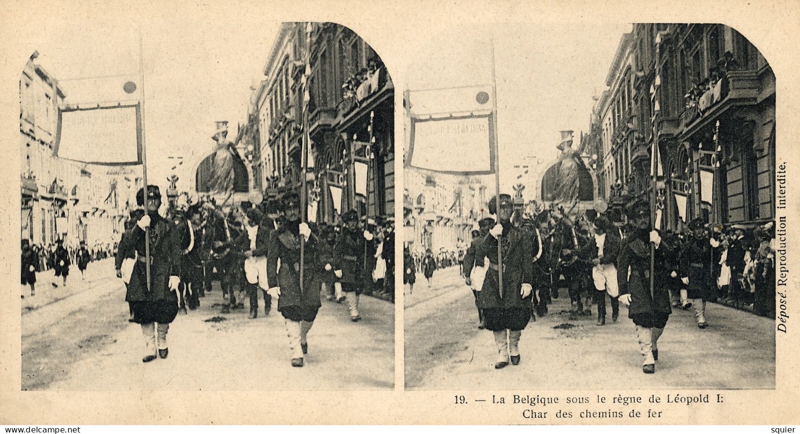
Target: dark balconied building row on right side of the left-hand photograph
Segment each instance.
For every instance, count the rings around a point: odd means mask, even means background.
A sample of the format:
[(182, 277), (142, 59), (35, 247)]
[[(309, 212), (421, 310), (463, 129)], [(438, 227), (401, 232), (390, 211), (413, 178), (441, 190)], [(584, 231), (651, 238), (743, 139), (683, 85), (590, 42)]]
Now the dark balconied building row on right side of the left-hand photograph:
[(306, 179), (310, 197), (317, 199), (318, 221), (334, 222), (348, 209), (361, 216), (392, 216), (394, 85), (378, 54), (344, 26), (284, 23), (264, 74), (254, 97), (263, 185), (301, 181), (305, 115), (314, 173)]

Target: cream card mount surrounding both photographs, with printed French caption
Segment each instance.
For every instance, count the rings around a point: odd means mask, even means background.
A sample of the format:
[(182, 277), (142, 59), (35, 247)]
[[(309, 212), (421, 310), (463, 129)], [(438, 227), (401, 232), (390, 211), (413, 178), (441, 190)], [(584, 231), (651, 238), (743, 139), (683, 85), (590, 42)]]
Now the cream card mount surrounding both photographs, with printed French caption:
[[(2, 237), (2, 293), (0, 293), (0, 424), (647, 424), (653, 420), (526, 420), (521, 412), (527, 406), (495, 405), (482, 408), (456, 406), (454, 396), (469, 391), (404, 392), (402, 295), (395, 305), (395, 388), (387, 392), (21, 392), (20, 388), (20, 309), (16, 297), (18, 276), (18, 79), (26, 58), (38, 42), (63, 37), (70, 32), (99, 26), (105, 22), (174, 22), (174, 26), (209, 26), (214, 32), (237, 26), (242, 14), (259, 14), (265, 22), (330, 21), (349, 26), (373, 46), (390, 70), (395, 84), (395, 144), (405, 138), (402, 131), (403, 74), (410, 59), (422, 47), (414, 43), (427, 31), (442, 29), (454, 22), (486, 24), (491, 22), (564, 23), (581, 22), (720, 22), (739, 30), (764, 54), (777, 78), (778, 164), (786, 162), (790, 179), (800, 172), (800, 157), (792, 152), (800, 137), (798, 127), (798, 29), (800, 4), (775, 1), (742, 0), (706, 2), (644, 1), (539, 1), (421, 2), (412, 0), (339, 1), (268, 1), (241, 2), (88, 2), (65, 0), (49, 2), (2, 2), (0, 26), (0, 155), (5, 171), (0, 173), (0, 217)], [(100, 43), (113, 44), (109, 39)], [(587, 35), (590, 37), (590, 35)], [(231, 45), (247, 41), (231, 41)], [(265, 53), (266, 58), (266, 53)], [(589, 113), (586, 113), (588, 116)], [(395, 215), (402, 227), (402, 155), (395, 155)], [(789, 240), (798, 240), (800, 218), (798, 193), (789, 185)], [(778, 214), (780, 215), (780, 214)], [(401, 237), (401, 235), (398, 235)], [(396, 257), (402, 263), (402, 243), (396, 243)], [(778, 333), (776, 389), (721, 393), (723, 404), (661, 404), (660, 424), (798, 424), (800, 423), (800, 388), (798, 388), (798, 333), (800, 333), (800, 294), (798, 256), (790, 252), (790, 282), (787, 288), (789, 333)], [(402, 288), (402, 273), (396, 273), (396, 287)], [(780, 290), (780, 289), (778, 289)], [(402, 291), (399, 291), (402, 294)], [(346, 354), (342, 354), (346, 356)], [(546, 356), (546, 355), (544, 355)], [(704, 360), (695, 360), (704, 363)], [(626, 372), (621, 372), (625, 374)], [(635, 376), (632, 376), (632, 381)], [(500, 391), (498, 391), (499, 393)], [(638, 395), (646, 400), (651, 392), (665, 395), (666, 390), (594, 390), (586, 391), (504, 391), (548, 396)], [(689, 392), (682, 390), (681, 392)], [(715, 396), (715, 390), (708, 392)], [(491, 392), (488, 392), (491, 393)], [(486, 394), (486, 393), (484, 393)], [(197, 403), (194, 410), (187, 405)], [(599, 410), (607, 404), (587, 406)], [(646, 406), (642, 405), (642, 409)], [(653, 406), (650, 406), (653, 407)], [(553, 406), (552, 408), (557, 408)]]

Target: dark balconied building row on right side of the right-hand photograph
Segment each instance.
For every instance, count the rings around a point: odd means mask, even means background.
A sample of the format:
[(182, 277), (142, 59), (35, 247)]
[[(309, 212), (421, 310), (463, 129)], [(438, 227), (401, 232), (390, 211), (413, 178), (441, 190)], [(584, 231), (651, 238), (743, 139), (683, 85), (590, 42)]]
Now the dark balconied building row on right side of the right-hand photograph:
[(718, 24), (636, 24), (606, 84), (595, 106), (606, 197), (650, 191), (655, 140), (665, 227), (774, 218), (774, 74), (742, 34)]

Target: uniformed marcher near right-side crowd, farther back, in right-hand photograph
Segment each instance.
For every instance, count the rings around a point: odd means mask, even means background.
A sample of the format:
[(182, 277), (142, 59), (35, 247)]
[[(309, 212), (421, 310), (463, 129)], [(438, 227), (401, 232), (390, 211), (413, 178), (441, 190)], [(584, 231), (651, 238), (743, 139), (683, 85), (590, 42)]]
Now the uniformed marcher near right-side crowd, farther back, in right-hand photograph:
[(699, 328), (706, 328), (706, 301), (716, 299), (716, 285), (711, 277), (711, 245), (706, 238), (702, 217), (689, 222), (692, 232), (681, 251), (681, 280), (688, 285), (688, 296), (694, 306), (694, 317)]

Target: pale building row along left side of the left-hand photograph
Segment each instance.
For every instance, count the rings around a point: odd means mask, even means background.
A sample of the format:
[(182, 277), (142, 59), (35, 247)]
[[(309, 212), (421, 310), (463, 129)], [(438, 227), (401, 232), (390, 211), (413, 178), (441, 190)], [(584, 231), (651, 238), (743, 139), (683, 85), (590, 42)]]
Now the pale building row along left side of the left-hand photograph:
[(35, 62), (37, 57), (34, 53), (28, 59), (19, 82), (21, 237), (41, 245), (59, 238), (68, 245), (114, 245), (123, 230), (126, 204), (135, 205), (133, 194), (141, 178), (132, 170), (53, 156), (58, 110), (66, 94)]

